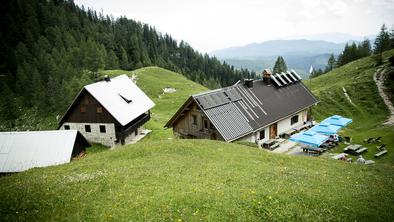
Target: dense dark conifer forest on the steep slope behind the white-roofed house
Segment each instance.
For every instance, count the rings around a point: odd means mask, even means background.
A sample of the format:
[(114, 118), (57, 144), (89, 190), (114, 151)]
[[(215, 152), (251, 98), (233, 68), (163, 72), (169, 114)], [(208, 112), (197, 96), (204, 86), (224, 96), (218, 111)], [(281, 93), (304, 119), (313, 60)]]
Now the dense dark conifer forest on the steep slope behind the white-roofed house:
[(9, 128), (26, 109), (63, 113), (101, 69), (155, 65), (208, 88), (256, 76), (148, 24), (114, 19), (72, 0), (5, 0), (0, 13), (0, 120)]

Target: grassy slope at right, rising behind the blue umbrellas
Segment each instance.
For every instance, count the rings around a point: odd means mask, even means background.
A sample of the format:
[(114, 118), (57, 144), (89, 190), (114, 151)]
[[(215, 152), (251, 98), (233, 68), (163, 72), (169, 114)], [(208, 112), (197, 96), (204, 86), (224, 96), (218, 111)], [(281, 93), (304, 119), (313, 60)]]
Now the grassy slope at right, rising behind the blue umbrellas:
[[(381, 67), (388, 65), (387, 59), (392, 55), (394, 50), (383, 54), (385, 64)], [(305, 82), (321, 101), (313, 109), (313, 116), (317, 120), (333, 114), (352, 118), (353, 123), (345, 128), (342, 135), (351, 136), (353, 143), (368, 147), (369, 150), (364, 155), (368, 159), (373, 159), (377, 152), (376, 146), (380, 144), (365, 144), (363, 140), (382, 136), (382, 143), (388, 145), (389, 154), (378, 163), (394, 165), (394, 127), (382, 125), (387, 120), (389, 111), (373, 81), (376, 69), (373, 58), (367, 57)], [(347, 100), (342, 87), (346, 89), (354, 105)], [(344, 145), (340, 146), (334, 152), (341, 152), (343, 147)]]

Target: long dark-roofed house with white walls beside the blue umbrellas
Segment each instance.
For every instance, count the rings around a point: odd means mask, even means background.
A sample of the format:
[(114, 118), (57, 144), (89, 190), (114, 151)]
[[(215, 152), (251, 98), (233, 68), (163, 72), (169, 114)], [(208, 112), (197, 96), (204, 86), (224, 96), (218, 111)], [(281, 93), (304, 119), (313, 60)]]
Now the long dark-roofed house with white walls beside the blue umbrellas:
[(261, 143), (304, 125), (319, 101), (294, 71), (192, 95), (165, 127), (180, 138)]

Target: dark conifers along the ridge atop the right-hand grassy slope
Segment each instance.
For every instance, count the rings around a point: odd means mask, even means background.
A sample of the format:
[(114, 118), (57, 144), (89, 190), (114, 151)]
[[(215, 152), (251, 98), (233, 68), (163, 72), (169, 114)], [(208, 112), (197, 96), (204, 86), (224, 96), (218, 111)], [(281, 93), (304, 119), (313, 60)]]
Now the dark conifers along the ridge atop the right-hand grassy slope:
[(369, 39), (365, 39), (358, 44), (355, 42), (346, 43), (342, 53), (340, 53), (337, 58), (335, 58), (334, 54), (331, 54), (326, 68), (324, 70), (314, 70), (314, 72), (311, 74), (311, 78), (325, 74), (336, 67), (343, 66), (349, 62), (370, 55), (374, 55), (376, 64), (380, 65), (383, 62), (381, 55), (382, 52), (390, 49), (394, 49), (394, 29), (388, 31), (386, 25), (383, 24), (380, 28), (379, 34), (376, 36), (373, 48)]

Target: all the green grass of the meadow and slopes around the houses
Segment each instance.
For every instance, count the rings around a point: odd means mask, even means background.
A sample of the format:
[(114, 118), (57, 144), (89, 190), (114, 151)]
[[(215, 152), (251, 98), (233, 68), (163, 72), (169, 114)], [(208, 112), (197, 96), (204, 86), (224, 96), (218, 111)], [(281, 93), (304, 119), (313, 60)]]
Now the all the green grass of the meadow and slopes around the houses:
[[(393, 54), (394, 51), (388, 52)], [(386, 53), (387, 56), (387, 53)], [(0, 177), (2, 221), (390, 221), (394, 212), (394, 136), (372, 82), (369, 58), (315, 78), (318, 119), (353, 118), (341, 134), (355, 143), (383, 136), (389, 154), (374, 166), (331, 158), (274, 154), (207, 140), (178, 140), (164, 124), (206, 88), (182, 75), (147, 67), (133, 72), (156, 103), (142, 141), (109, 151), (100, 145), (70, 164)], [(309, 81), (307, 82), (309, 84)], [(343, 96), (344, 86), (357, 105)], [(176, 93), (162, 95), (173, 87)], [(341, 145), (343, 148), (343, 145)], [(374, 154), (373, 146), (366, 155)], [(335, 151), (341, 151), (338, 148)]]

